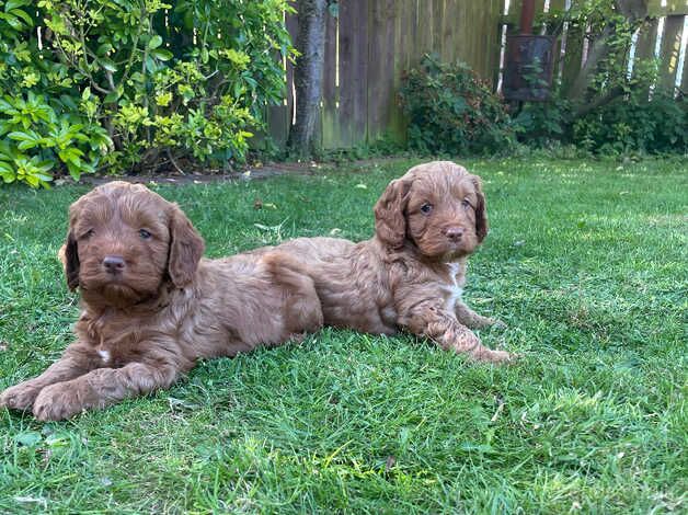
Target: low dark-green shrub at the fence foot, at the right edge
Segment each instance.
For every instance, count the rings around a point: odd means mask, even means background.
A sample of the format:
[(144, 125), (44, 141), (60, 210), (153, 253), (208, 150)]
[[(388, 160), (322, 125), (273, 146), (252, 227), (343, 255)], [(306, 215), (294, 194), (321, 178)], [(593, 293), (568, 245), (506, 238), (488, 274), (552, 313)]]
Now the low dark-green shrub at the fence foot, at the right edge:
[(666, 92), (616, 99), (573, 124), (573, 141), (593, 152), (688, 152), (688, 103)]

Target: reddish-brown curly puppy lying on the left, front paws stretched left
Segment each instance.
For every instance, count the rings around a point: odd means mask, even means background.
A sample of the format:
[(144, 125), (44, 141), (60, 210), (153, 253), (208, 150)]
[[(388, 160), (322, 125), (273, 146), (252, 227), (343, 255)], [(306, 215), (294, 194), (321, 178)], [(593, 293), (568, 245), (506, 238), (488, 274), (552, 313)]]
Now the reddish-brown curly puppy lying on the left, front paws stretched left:
[(312, 281), (270, 253), (202, 259), (182, 210), (142, 185), (112, 182), (70, 208), (62, 250), (79, 287), (77, 341), (0, 405), (69, 417), (168, 388), (198, 358), (276, 345), (322, 325)]

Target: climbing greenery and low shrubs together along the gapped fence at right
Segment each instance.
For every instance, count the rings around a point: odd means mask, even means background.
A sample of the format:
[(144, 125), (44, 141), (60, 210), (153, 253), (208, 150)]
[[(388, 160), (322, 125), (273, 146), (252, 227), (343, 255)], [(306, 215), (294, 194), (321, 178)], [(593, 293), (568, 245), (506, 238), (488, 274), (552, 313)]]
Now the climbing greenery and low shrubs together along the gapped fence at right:
[(632, 11), (620, 10), (618, 2), (581, 0), (541, 15), (552, 35), (560, 35), (564, 24), (574, 37), (586, 33), (595, 42), (595, 60), (557, 84), (550, 101), (523, 105), (514, 119), (520, 141), (540, 148), (574, 144), (610, 156), (687, 151), (685, 99), (662, 91), (649, 99), (660, 79), (658, 60), (635, 58), (629, 73), (633, 35), (650, 30), (650, 19)]

